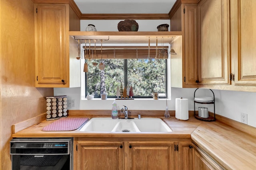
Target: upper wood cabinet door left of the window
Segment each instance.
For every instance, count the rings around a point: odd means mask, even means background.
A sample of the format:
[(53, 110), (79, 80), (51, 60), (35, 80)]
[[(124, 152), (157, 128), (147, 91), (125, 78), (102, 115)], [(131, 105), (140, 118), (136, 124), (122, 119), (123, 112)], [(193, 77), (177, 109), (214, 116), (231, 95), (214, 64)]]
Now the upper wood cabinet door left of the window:
[(68, 6), (35, 4), (35, 8), (36, 87), (42, 87), (42, 84), (66, 84)]

